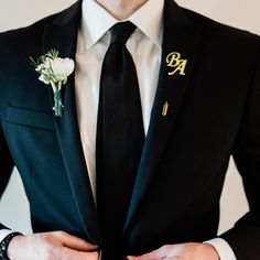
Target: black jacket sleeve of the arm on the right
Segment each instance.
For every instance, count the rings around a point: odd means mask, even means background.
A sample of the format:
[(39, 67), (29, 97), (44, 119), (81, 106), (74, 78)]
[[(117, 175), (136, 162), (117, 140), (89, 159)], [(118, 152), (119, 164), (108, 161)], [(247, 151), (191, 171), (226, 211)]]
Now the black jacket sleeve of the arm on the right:
[(232, 152), (250, 210), (220, 236), (231, 246), (238, 260), (260, 259), (260, 54), (253, 75)]

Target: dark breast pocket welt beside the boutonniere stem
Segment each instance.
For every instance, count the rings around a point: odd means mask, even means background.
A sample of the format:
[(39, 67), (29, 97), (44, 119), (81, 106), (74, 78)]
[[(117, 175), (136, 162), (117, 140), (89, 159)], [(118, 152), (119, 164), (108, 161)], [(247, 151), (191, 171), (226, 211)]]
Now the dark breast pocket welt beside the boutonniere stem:
[(55, 130), (52, 113), (12, 107), (10, 105), (7, 110), (7, 121), (28, 127)]

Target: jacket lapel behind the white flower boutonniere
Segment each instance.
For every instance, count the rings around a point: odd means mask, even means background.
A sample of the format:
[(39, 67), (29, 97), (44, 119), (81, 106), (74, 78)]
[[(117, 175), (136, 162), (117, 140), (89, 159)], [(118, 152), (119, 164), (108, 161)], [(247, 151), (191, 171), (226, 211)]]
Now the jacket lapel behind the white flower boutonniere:
[[(54, 23), (45, 28), (43, 53), (51, 48), (56, 48), (59, 51), (61, 57), (71, 57), (75, 61), (80, 8), (79, 1), (57, 15)], [(91, 242), (99, 245), (98, 218), (78, 129), (74, 77), (75, 75), (72, 75), (68, 78), (68, 83), (63, 89), (64, 116), (54, 120), (64, 164), (83, 228)], [(53, 104), (51, 87), (50, 98)]]

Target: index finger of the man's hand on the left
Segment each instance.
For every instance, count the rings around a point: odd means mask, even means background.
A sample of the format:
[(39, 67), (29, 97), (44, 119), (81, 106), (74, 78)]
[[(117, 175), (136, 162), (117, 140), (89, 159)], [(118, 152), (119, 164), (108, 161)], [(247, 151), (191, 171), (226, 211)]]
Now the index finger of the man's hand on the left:
[(56, 231), (53, 235), (61, 241), (64, 247), (88, 252), (97, 250), (96, 245), (89, 243), (82, 238), (69, 235), (68, 232)]

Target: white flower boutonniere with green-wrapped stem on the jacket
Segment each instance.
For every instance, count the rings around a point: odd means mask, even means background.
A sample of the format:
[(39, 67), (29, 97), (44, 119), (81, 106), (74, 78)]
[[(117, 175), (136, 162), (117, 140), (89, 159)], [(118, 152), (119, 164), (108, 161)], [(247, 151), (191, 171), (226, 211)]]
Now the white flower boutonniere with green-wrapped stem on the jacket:
[(36, 61), (30, 57), (35, 71), (41, 74), (39, 79), (51, 85), (54, 94), (53, 110), (56, 117), (63, 116), (62, 87), (67, 83), (67, 77), (74, 72), (73, 59), (58, 57), (58, 51), (52, 48)]

